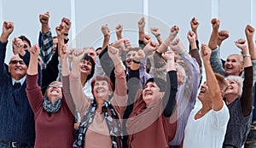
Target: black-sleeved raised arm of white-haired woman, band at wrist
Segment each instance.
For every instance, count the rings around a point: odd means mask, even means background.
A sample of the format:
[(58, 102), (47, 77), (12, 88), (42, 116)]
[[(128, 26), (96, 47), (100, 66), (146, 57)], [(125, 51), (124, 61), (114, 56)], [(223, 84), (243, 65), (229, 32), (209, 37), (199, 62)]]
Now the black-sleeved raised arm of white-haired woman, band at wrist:
[(244, 75), (242, 93), (241, 93), (241, 111), (244, 117), (247, 117), (253, 107), (253, 67), (252, 60), (249, 53), (247, 41), (245, 39), (239, 39), (236, 42), (236, 46), (241, 48), (241, 54), (243, 54), (244, 62)]

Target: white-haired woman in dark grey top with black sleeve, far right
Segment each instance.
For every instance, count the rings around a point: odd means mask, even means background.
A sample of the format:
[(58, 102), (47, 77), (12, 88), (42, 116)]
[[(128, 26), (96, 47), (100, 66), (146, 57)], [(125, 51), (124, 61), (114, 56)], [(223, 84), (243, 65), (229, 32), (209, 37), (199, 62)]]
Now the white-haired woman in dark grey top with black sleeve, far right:
[(224, 101), (230, 111), (230, 121), (224, 139), (224, 148), (241, 147), (245, 144), (252, 120), (253, 65), (246, 40), (239, 39), (244, 59), (244, 80), (239, 76), (226, 78), (229, 86), (224, 92)]

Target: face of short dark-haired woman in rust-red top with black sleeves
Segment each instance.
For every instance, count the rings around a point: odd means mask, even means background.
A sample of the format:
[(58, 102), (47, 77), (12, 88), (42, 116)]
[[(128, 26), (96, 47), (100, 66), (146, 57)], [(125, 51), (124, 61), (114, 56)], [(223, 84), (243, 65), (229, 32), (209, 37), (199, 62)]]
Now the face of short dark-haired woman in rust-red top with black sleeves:
[(147, 106), (154, 100), (162, 98), (162, 96), (163, 92), (160, 92), (160, 88), (156, 83), (148, 82), (143, 88), (143, 100)]

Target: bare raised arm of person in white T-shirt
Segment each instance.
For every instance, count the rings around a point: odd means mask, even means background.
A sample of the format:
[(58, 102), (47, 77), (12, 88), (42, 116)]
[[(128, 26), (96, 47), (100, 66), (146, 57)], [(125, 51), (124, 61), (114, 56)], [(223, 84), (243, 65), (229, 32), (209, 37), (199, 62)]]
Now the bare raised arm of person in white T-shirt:
[(207, 47), (207, 45), (202, 44), (201, 45), (201, 58), (203, 60), (206, 76), (207, 76), (207, 94), (210, 94), (209, 96), (212, 99), (212, 108), (214, 111), (219, 111), (222, 109), (224, 105), (224, 101), (221, 95), (220, 88), (218, 86), (218, 81), (214, 75), (214, 72), (212, 71), (212, 66), (210, 63), (210, 57), (212, 54), (212, 49)]

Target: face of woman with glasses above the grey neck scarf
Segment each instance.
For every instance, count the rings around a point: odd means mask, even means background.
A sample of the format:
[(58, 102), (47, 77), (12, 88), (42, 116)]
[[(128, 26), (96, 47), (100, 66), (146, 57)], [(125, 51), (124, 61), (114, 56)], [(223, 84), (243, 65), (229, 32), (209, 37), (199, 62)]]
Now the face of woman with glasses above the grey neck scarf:
[(61, 82), (53, 82), (50, 83), (47, 90), (46, 95), (48, 96), (49, 100), (62, 98), (62, 83)]

